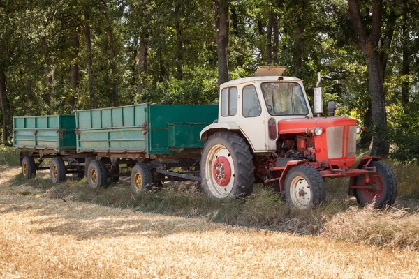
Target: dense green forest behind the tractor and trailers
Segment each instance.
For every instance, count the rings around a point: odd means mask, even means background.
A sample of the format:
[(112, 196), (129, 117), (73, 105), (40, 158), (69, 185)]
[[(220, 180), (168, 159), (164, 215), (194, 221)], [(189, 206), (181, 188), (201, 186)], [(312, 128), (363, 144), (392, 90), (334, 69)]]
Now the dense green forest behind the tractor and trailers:
[(284, 65), (310, 100), (321, 72), (361, 147), (416, 161), (418, 18), (417, 0), (0, 0), (0, 143), (13, 116), (217, 103), (219, 84)]

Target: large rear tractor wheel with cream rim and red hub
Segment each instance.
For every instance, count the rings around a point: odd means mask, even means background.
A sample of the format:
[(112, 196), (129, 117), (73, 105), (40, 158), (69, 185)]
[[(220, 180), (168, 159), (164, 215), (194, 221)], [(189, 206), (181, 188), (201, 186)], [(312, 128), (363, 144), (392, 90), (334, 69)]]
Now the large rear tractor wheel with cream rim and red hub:
[(200, 167), (202, 186), (210, 198), (247, 197), (253, 192), (253, 155), (240, 135), (211, 135), (205, 143)]

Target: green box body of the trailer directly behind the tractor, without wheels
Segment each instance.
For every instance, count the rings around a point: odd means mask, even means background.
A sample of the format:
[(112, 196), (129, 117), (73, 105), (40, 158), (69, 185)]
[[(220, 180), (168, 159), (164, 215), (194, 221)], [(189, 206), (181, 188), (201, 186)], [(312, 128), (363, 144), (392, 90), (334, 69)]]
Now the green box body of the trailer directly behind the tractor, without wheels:
[[(179, 158), (200, 153), (199, 133), (217, 119), (218, 105), (128, 105), (75, 112), (78, 153)], [(170, 156), (175, 154), (175, 156)]]

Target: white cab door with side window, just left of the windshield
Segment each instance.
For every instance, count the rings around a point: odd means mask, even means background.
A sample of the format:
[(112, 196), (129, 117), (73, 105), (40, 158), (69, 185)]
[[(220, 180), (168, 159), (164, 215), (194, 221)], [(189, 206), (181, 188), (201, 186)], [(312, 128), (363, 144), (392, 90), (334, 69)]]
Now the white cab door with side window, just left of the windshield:
[(240, 119), (240, 130), (247, 137), (255, 152), (267, 151), (266, 112), (261, 97), (255, 84), (240, 84), (238, 106), (240, 107), (240, 117), (237, 119)]

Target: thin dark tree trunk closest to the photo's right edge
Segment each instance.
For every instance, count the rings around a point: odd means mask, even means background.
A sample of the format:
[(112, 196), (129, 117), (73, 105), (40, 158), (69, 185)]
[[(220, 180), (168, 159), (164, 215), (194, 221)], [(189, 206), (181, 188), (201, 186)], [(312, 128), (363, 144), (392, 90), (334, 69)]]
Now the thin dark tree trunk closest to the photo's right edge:
[[(403, 42), (403, 62), (402, 75), (410, 74), (410, 52), (409, 52), (409, 30), (407, 29), (408, 6), (407, 0), (403, 1), (403, 23), (402, 23), (402, 42)], [(406, 107), (409, 103), (409, 82), (402, 82), (402, 103)]]

